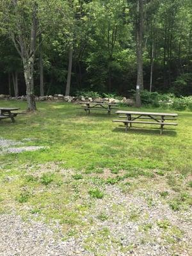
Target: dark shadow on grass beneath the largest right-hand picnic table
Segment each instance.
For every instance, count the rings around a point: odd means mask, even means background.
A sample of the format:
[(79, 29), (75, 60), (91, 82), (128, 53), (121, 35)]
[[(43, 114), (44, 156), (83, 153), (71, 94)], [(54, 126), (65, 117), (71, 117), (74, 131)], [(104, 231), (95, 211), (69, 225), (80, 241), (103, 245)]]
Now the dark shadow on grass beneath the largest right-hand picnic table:
[[(143, 134), (143, 135), (160, 135), (160, 129), (159, 128), (152, 128), (152, 129), (143, 129), (143, 127), (131, 127), (128, 129), (127, 132), (125, 132), (125, 127), (123, 125), (120, 125), (119, 127), (116, 127), (113, 129), (113, 132), (124, 132), (125, 134)], [(176, 137), (177, 132), (173, 129), (163, 129), (163, 136), (171, 136)]]

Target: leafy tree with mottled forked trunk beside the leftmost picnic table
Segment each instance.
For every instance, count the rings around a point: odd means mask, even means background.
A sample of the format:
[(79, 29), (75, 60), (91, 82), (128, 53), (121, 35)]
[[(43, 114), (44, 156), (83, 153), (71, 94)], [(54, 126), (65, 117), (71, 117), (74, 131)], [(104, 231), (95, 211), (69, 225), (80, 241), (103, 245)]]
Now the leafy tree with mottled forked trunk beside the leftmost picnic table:
[[(35, 111), (34, 63), (35, 54), (41, 40), (38, 36), (52, 26), (52, 19), (58, 16), (55, 12), (56, 2), (46, 0), (3, 0), (1, 10), (4, 13), (3, 26), (19, 52), (24, 69), (28, 111)], [(53, 12), (51, 12), (53, 10)]]

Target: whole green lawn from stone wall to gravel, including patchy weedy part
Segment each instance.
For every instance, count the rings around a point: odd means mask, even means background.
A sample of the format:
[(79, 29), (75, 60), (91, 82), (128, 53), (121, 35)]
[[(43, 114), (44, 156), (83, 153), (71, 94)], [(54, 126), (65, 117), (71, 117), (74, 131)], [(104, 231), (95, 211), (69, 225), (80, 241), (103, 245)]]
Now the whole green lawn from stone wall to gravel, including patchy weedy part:
[[(0, 106), (24, 110), (26, 102), (1, 100)], [(86, 116), (78, 107), (40, 102), (36, 113), (17, 116), (15, 124), (8, 119), (0, 123), (1, 138), (30, 138), (25, 145), (47, 147), (36, 152), (0, 154), (0, 212), (16, 211), (26, 218), (58, 220), (67, 239), (76, 236), (78, 228), (87, 230), (94, 225), (92, 214), (97, 201), (110, 197), (106, 186), (131, 194), (157, 186), (163, 204), (172, 211), (188, 211), (191, 112), (178, 112), (179, 125), (165, 127), (160, 136), (156, 125), (133, 125), (125, 133), (123, 125), (118, 127), (111, 122), (115, 113), (108, 116), (98, 111)], [(152, 198), (146, 200), (149, 206), (153, 205)], [(124, 212), (115, 206), (114, 209), (116, 214)], [(104, 212), (98, 212), (98, 216), (100, 221), (107, 218)], [(85, 243), (86, 250), (94, 250), (89, 244), (90, 241)]]

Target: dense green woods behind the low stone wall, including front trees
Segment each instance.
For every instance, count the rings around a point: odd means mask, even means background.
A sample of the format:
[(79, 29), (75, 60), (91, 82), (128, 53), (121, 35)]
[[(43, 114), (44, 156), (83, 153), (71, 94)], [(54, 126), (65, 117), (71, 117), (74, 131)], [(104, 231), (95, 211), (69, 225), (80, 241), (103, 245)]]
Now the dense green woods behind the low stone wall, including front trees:
[(54, 93), (192, 93), (191, 0), (2, 0), (0, 20), (0, 93), (29, 109)]

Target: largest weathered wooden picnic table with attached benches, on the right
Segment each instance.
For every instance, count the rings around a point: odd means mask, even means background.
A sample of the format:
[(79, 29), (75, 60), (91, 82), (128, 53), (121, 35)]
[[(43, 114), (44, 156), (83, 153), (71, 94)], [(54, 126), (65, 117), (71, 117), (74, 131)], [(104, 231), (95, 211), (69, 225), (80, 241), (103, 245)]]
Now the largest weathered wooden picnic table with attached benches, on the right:
[[(124, 123), (126, 132), (128, 131), (128, 127), (132, 127), (132, 124), (160, 125), (160, 134), (163, 134), (164, 125), (177, 125), (176, 123), (172, 123), (172, 122), (164, 122), (164, 120), (176, 120), (176, 117), (178, 116), (177, 113), (156, 113), (156, 112), (122, 111), (122, 110), (116, 111), (115, 113), (120, 115), (119, 116), (120, 118), (125, 118), (125, 120), (113, 120), (113, 122)], [(152, 120), (152, 122), (151, 121), (148, 122), (145, 120)]]

